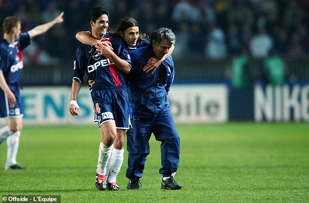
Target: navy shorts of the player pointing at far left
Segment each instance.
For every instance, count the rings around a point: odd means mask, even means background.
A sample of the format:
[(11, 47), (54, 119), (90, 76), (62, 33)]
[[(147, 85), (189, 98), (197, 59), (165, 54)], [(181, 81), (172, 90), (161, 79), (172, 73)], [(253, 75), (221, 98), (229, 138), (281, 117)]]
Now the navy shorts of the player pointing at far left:
[(22, 117), (23, 109), (19, 94), (20, 87), (19, 85), (11, 85), (11, 84), (9, 84), (8, 86), (16, 97), (16, 104), (14, 107), (10, 108), (10, 104), (6, 99), (5, 93), (0, 88), (0, 118)]

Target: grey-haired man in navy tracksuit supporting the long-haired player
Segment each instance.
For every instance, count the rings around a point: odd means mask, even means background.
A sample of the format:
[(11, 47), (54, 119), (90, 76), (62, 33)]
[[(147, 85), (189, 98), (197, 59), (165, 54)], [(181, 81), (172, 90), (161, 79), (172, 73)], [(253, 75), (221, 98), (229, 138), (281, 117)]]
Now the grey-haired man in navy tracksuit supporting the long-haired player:
[(161, 143), (162, 189), (181, 189), (174, 181), (180, 154), (180, 139), (175, 128), (167, 95), (174, 80), (174, 62), (170, 56), (154, 74), (144, 72), (143, 67), (151, 57), (162, 57), (175, 42), (175, 35), (168, 28), (159, 28), (151, 35), (152, 43), (130, 51), (132, 61), (128, 77), (128, 94), (132, 129), (127, 132), (129, 151), (126, 177), (127, 189), (139, 189), (147, 155), (149, 139), (154, 133)]

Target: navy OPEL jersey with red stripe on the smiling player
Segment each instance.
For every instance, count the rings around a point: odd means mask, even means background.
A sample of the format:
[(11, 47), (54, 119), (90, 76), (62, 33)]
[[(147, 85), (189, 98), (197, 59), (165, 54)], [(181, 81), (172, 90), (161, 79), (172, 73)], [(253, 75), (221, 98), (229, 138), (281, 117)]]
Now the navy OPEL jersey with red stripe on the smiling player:
[[(128, 50), (121, 37), (106, 33), (101, 41), (110, 41), (116, 55), (131, 66)], [(83, 76), (85, 73), (88, 79), (96, 81), (92, 88), (126, 85), (125, 73), (120, 71), (111, 59), (99, 55), (96, 51), (96, 47), (82, 44), (76, 51), (73, 79), (78, 79), (83, 83)]]

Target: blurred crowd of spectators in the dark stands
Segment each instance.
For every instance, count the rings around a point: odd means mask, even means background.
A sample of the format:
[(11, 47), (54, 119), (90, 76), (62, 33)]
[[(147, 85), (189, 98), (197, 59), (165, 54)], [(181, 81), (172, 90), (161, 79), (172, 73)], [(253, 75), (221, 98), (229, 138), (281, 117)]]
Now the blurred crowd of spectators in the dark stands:
[(225, 59), (244, 49), (253, 58), (266, 58), (270, 50), (290, 57), (309, 53), (309, 0), (0, 0), (0, 20), (16, 16), (27, 31), (64, 11), (64, 23), (36, 38), (36, 49), (72, 61), (75, 34), (90, 30), (88, 13), (97, 5), (110, 12), (114, 30), (129, 16), (148, 35), (171, 28), (175, 58)]

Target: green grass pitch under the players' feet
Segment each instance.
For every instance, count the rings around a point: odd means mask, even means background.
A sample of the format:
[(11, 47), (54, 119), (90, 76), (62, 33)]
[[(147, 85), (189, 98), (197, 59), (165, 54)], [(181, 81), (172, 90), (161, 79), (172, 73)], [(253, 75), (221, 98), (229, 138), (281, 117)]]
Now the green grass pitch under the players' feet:
[[(6, 171), (0, 145), (0, 195), (61, 195), (62, 203), (309, 202), (309, 123), (177, 125), (181, 156), (175, 180), (160, 189), (160, 143), (151, 154), (142, 189), (128, 191), (127, 151), (120, 192), (94, 185), (99, 134), (93, 126), (25, 126), (18, 161), (28, 170)], [(126, 147), (125, 147), (126, 149)]]

